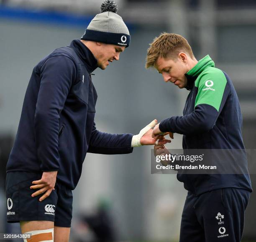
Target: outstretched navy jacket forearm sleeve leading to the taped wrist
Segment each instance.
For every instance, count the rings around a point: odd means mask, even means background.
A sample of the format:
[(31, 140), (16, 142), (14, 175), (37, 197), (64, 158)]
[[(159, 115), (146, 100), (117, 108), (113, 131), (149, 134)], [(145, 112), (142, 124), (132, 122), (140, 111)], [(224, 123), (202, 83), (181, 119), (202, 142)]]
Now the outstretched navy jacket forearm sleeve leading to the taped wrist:
[(108, 134), (100, 132), (93, 124), (90, 145), (87, 152), (97, 154), (129, 154), (133, 152), (133, 134)]

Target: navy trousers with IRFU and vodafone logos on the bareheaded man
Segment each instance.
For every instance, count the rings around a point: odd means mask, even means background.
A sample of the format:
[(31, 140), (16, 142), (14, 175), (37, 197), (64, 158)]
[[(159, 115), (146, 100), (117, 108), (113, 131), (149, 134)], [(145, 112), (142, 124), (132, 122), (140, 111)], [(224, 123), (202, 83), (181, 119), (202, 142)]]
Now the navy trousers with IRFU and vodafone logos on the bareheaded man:
[(182, 212), (179, 242), (240, 242), (251, 192), (238, 188), (188, 192)]

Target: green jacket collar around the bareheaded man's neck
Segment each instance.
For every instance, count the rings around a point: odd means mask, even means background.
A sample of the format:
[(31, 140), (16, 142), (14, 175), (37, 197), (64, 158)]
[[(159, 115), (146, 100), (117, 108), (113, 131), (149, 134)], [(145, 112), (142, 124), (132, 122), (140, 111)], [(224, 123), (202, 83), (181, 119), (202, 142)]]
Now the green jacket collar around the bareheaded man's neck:
[(206, 55), (204, 58), (199, 60), (197, 64), (185, 74), (187, 77), (187, 90), (191, 90), (193, 88), (195, 80), (207, 66), (214, 67), (214, 62), (210, 58), (210, 55)]

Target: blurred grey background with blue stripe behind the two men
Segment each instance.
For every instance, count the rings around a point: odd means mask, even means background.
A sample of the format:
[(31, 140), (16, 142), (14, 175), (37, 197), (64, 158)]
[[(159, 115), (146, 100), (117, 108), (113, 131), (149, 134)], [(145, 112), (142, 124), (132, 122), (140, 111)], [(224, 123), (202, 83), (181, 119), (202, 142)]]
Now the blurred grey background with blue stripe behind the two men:
[[(32, 69), (55, 48), (79, 39), (101, 3), (0, 0), (0, 232), (19, 231), (18, 224), (5, 222), (4, 173)], [(157, 71), (144, 68), (153, 38), (161, 32), (178, 33), (187, 38), (197, 60), (209, 54), (231, 77), (243, 113), (244, 143), (256, 149), (256, 1), (116, 3), (130, 29), (131, 45), (118, 62), (94, 72), (97, 129), (138, 134), (154, 118), (182, 114), (187, 90), (164, 83)], [(182, 148), (182, 136), (174, 134), (168, 147)], [(145, 146), (128, 155), (87, 154), (73, 192), (70, 241), (96, 241), (99, 231), (107, 231), (105, 241), (178, 241), (186, 191), (176, 175), (152, 175), (150, 156), (151, 147)], [(254, 188), (256, 177), (251, 179)], [(243, 241), (256, 241), (255, 204), (253, 193)]]

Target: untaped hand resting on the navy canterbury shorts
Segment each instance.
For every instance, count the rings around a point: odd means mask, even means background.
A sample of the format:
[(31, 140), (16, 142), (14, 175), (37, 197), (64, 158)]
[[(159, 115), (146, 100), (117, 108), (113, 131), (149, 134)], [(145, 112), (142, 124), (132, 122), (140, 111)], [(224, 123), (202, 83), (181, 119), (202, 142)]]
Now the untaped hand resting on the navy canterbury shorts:
[(44, 195), (40, 197), (39, 201), (42, 202), (46, 197), (49, 197), (56, 183), (56, 176), (58, 171), (44, 171), (42, 178), (38, 181), (32, 181), (35, 184), (30, 187), (30, 189), (40, 189), (34, 192), (31, 197), (36, 197), (42, 193)]

